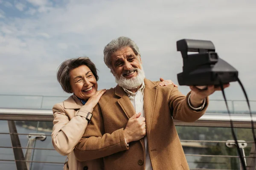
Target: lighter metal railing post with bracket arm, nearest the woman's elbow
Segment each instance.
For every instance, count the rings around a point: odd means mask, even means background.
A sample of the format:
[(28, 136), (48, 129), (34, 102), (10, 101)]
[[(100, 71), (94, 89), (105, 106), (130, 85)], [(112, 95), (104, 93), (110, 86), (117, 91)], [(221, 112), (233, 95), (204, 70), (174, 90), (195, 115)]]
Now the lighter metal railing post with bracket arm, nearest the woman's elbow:
[[(28, 138), (27, 147), (32, 148), (32, 147), (35, 146), (35, 141), (36, 140), (44, 141), (46, 139), (46, 136), (45, 136), (44, 133), (29, 133), (27, 138)], [(26, 153), (25, 153), (25, 160), (27, 161), (26, 166), (27, 166), (28, 170), (30, 170), (30, 165), (31, 165), (31, 162), (29, 162), (29, 161), (32, 161), (31, 160), (32, 150), (33, 149), (26, 149)]]

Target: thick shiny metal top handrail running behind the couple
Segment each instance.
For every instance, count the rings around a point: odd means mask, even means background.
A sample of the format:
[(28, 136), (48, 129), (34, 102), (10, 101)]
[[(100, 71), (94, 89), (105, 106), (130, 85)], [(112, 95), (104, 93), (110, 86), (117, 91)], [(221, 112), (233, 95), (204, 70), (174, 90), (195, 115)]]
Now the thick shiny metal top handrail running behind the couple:
[[(232, 119), (234, 127), (251, 128), (251, 121), (256, 126), (256, 115), (249, 114), (228, 114), (223, 113), (206, 113), (196, 122), (180, 122), (174, 120), (177, 126), (199, 126), (199, 127), (230, 127), (230, 119)], [(52, 122), (52, 110), (42, 109), (10, 109), (0, 108), (0, 120), (16, 120), (16, 121), (43, 121)]]

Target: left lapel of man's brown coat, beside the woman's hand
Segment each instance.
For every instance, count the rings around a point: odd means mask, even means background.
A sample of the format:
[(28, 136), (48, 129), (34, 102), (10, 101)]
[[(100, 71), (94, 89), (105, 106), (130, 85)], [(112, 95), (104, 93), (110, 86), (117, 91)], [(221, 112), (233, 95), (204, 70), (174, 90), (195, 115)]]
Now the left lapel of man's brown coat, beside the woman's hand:
[(131, 118), (135, 114), (135, 110), (133, 105), (131, 104), (131, 101), (125, 91), (123, 90), (122, 87), (119, 85), (116, 86), (116, 96), (121, 97), (120, 99), (117, 100), (118, 104), (124, 111), (125, 115), (127, 118)]

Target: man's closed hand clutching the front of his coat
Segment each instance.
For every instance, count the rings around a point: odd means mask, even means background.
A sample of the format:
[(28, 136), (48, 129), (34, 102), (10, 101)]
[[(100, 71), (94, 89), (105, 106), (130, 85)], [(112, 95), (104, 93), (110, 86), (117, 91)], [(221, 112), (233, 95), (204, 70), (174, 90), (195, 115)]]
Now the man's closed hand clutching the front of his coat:
[(124, 136), (127, 143), (140, 140), (146, 135), (145, 117), (140, 117), (141, 113), (134, 114), (124, 129)]

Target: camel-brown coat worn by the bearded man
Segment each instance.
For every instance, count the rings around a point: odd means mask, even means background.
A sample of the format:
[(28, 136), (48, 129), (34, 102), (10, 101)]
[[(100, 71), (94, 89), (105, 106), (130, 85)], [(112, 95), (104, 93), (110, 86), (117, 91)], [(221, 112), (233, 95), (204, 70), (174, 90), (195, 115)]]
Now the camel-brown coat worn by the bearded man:
[[(188, 95), (173, 85), (161, 87), (159, 82), (144, 80), (144, 114), (148, 152), (153, 170), (189, 170), (180, 139), (173, 122), (177, 119), (193, 122), (203, 111), (193, 111)], [(144, 170), (144, 139), (125, 144), (124, 131), (128, 119), (135, 114), (125, 91), (111, 88), (94, 108), (93, 119), (74, 149), (78, 160), (104, 157), (105, 170)]]

